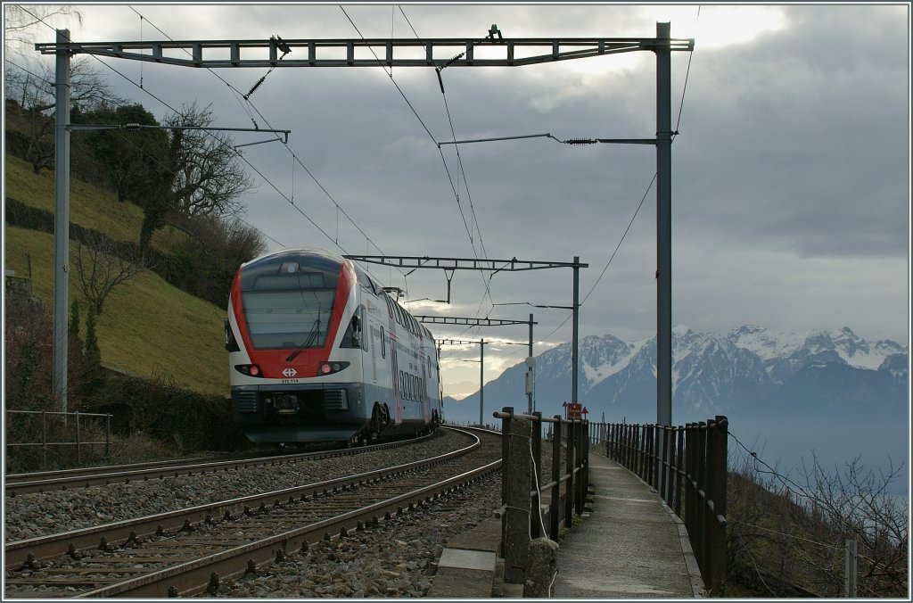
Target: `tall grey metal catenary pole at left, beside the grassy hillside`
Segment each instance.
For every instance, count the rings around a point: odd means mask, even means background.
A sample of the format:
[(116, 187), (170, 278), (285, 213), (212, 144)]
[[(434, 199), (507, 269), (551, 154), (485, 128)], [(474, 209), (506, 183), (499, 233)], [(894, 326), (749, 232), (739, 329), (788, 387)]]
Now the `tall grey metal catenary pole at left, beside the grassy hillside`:
[[(60, 48), (69, 42), (69, 30), (58, 29)], [(54, 396), (58, 410), (67, 412), (67, 361), (69, 337), (69, 53), (57, 52), (55, 80), (54, 155)]]

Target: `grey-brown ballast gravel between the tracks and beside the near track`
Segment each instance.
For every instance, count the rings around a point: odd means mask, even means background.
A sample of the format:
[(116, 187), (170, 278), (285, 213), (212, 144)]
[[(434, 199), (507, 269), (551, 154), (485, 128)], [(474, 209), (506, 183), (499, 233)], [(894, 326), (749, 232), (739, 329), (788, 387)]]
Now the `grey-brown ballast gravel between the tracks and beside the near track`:
[[(314, 481), (403, 464), (463, 448), (451, 431), (404, 448), (161, 480), (21, 494), (5, 499), (6, 541), (216, 503)], [(546, 452), (543, 465), (548, 467)], [(420, 598), (434, 580), (447, 543), (490, 519), (500, 506), (496, 473), (415, 511), (394, 514), (361, 532), (333, 536), (307, 551), (223, 580), (203, 598)]]

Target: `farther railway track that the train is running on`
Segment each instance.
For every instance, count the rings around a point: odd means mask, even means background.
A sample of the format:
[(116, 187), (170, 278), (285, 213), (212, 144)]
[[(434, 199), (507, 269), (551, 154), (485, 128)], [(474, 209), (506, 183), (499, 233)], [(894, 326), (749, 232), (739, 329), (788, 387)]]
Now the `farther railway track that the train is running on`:
[(386, 450), (413, 444), (431, 436), (373, 444), (357, 449), (326, 449), (293, 454), (274, 454), (238, 459), (184, 459), (165, 460), (160, 462), (141, 463), (136, 465), (114, 465), (109, 467), (88, 467), (63, 471), (40, 471), (35, 473), (15, 473), (5, 476), (4, 490), (6, 496), (17, 496), (33, 492), (52, 492), (69, 490), (111, 483), (131, 483), (176, 477), (178, 475), (199, 475), (215, 471), (231, 471), (249, 467), (278, 466), (287, 463), (327, 459), (337, 456), (360, 454), (372, 450)]

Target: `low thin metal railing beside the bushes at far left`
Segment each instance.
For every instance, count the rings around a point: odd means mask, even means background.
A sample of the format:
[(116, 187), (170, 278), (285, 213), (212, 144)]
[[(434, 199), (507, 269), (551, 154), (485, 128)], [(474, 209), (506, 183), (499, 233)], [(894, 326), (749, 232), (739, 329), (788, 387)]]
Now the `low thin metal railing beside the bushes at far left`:
[[(16, 418), (33, 418), (34, 423), (27, 425), (25, 428), (21, 426), (16, 426)], [(24, 433), (34, 434), (34, 436), (39, 435), (39, 428), (37, 426), (37, 418), (40, 417), (40, 440), (38, 441), (26, 441), (26, 442), (10, 442), (9, 438), (12, 435), (13, 431), (21, 431)], [(75, 420), (69, 420), (74, 418)], [(84, 421), (89, 419), (96, 424), (95, 429), (86, 427)], [(98, 423), (99, 419), (104, 419), (104, 440), (97, 440), (100, 434), (101, 428)], [(20, 419), (21, 420), (21, 419)], [(19, 427), (16, 429), (16, 427)], [(88, 434), (88, 435), (87, 435)], [(33, 437), (34, 437), (33, 436)], [(54, 439), (64, 439), (66, 437), (68, 441), (53, 441)], [(85, 439), (85, 438), (89, 439)], [(7, 450), (15, 450), (17, 448), (34, 450), (38, 447), (41, 449), (41, 468), (44, 471), (47, 471), (47, 457), (48, 451), (52, 447), (66, 447), (66, 446), (75, 446), (76, 447), (76, 462), (77, 464), (82, 463), (82, 452), (83, 449), (87, 446), (104, 446), (105, 452), (104, 456), (110, 456), (110, 443), (111, 443), (111, 415), (105, 414), (100, 415), (96, 413), (85, 413), (85, 412), (54, 412), (48, 410), (7, 410), (6, 411), (6, 441), (5, 446)]]

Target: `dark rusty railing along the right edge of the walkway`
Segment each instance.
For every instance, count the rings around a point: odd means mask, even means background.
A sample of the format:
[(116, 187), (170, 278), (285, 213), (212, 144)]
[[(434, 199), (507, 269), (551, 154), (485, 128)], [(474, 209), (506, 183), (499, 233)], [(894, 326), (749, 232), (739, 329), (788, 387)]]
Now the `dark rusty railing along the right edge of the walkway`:
[(650, 484), (685, 524), (708, 593), (726, 579), (729, 419), (666, 427), (591, 423), (606, 456)]

